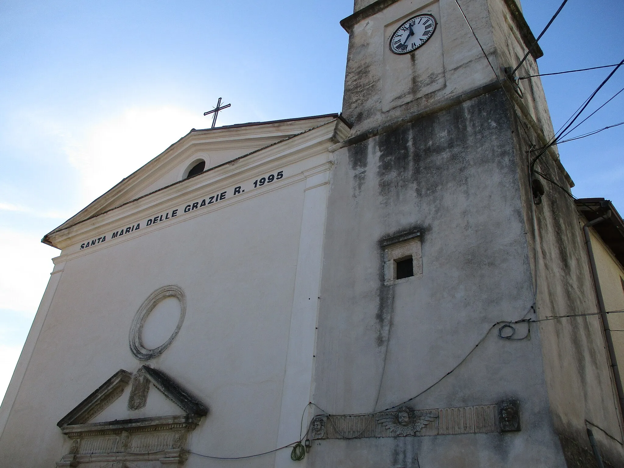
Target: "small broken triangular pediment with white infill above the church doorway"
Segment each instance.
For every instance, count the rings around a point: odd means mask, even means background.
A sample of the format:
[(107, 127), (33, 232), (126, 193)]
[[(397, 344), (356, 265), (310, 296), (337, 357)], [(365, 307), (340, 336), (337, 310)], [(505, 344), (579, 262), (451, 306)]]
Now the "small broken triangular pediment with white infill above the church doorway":
[(159, 417), (207, 414), (208, 408), (167, 374), (142, 366), (134, 374), (119, 369), (57, 426), (67, 430), (87, 424), (132, 424)]

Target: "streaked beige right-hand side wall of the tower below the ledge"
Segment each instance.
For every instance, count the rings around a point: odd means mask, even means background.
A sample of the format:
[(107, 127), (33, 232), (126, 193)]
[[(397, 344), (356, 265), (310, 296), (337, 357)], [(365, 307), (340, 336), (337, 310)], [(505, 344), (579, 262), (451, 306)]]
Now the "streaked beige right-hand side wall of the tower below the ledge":
[[(519, 140), (519, 173), (530, 255), (535, 258), (532, 233), (537, 229), (538, 316), (597, 313), (583, 232), (577, 208), (562, 188), (541, 178), (545, 194), (540, 205), (530, 202), (530, 145), (524, 130)], [(532, 142), (537, 135), (529, 130)], [(532, 152), (531, 157), (537, 153)], [(544, 154), (535, 168), (563, 188), (567, 180), (558, 161)], [(534, 218), (535, 217), (535, 218)], [(535, 224), (536, 228), (533, 228)], [(535, 268), (535, 267), (534, 267)], [(591, 451), (586, 428), (590, 427), (605, 459), (624, 465), (622, 421), (609, 358), (598, 316), (557, 319), (540, 323), (544, 371), (555, 430), (562, 436), (570, 466), (573, 450)], [(569, 449), (569, 450), (568, 450)]]

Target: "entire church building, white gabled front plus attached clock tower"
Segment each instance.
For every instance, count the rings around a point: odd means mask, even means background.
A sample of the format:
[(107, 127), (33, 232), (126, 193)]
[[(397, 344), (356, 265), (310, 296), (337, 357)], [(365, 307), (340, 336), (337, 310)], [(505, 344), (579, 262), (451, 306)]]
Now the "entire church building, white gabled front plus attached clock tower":
[(6, 466), (624, 466), (519, 4), (341, 24), (341, 114), (193, 129), (44, 237)]

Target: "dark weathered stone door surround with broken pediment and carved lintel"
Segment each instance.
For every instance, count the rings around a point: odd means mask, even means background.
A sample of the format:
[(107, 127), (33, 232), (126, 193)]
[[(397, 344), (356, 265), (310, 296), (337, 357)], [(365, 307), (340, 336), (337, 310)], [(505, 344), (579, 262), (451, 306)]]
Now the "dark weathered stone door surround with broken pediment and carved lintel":
[[(158, 369), (142, 366), (135, 373), (138, 376), (132, 379), (133, 386), (137, 385), (135, 401), (141, 399), (137, 395), (144, 392), (145, 386), (153, 385), (185, 414), (89, 422), (87, 416), (95, 414), (94, 408), (102, 411), (109, 406), (114, 401), (111, 395), (117, 394), (119, 388), (123, 391), (130, 375), (120, 369), (57, 423), (63, 434), (72, 440), (69, 453), (57, 462), (57, 467), (138, 468), (152, 467), (153, 463), (184, 464), (188, 434), (208, 414), (208, 408)], [(144, 395), (147, 397), (147, 392)]]

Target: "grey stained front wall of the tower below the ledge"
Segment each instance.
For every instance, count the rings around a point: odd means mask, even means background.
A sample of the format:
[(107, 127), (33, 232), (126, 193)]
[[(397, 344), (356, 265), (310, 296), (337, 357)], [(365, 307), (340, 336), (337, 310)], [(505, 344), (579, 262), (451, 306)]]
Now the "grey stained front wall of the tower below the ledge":
[[(326, 227), (314, 401), (380, 411), (519, 399), (522, 431), (316, 441), (312, 466), (564, 467), (534, 318), (514, 125), (497, 90), (336, 152)], [(379, 241), (422, 234), (421, 278), (384, 286)], [(490, 331), (489, 331), (490, 330)], [(478, 348), (477, 343), (487, 334)]]

